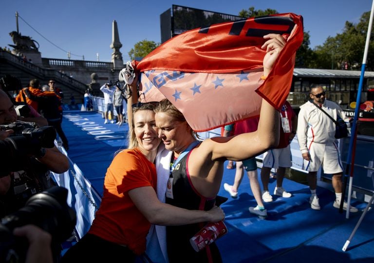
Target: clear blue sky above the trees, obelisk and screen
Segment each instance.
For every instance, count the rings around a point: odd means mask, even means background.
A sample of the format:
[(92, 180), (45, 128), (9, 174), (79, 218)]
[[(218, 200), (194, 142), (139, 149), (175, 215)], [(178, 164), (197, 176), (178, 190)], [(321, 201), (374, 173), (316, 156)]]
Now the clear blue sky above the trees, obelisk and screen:
[[(242, 9), (276, 9), (304, 18), (311, 47), (341, 33), (345, 21), (357, 23), (371, 10), (371, 0), (3, 0), (0, 8), (0, 46), (13, 44), (9, 32), (16, 31), (16, 11), (42, 36), (63, 50), (79, 55), (71, 59), (111, 61), (112, 21), (118, 24), (123, 60), (138, 41), (161, 42), (160, 14), (172, 4), (238, 15)], [(67, 53), (45, 40), (23, 20), (19, 31), (40, 44), (43, 58), (67, 59)]]

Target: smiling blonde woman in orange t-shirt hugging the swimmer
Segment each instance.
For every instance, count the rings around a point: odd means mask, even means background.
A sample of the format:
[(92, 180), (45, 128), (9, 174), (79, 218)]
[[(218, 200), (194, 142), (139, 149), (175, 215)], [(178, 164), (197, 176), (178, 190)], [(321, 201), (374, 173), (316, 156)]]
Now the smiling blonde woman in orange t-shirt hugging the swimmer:
[(218, 222), (219, 207), (187, 210), (160, 202), (155, 192), (154, 161), (160, 144), (154, 105), (133, 108), (129, 148), (118, 153), (107, 170), (104, 194), (88, 233), (62, 257), (62, 262), (134, 262), (146, 248), (150, 224), (181, 225)]

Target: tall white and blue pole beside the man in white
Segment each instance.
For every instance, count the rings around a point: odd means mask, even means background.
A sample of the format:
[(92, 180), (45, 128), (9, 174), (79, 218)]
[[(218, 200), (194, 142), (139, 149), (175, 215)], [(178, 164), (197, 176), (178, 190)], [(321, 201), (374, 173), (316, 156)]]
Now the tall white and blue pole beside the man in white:
[[(372, 25), (373, 25), (373, 14), (374, 14), (374, 0), (372, 2), (372, 10), (370, 12), (370, 19), (369, 19), (369, 26), (368, 26), (368, 33), (366, 35), (366, 43), (365, 43), (365, 51), (364, 51), (364, 57), (362, 59), (362, 67), (361, 67), (361, 77), (360, 77), (360, 83), (357, 91), (357, 101), (356, 101), (356, 108), (355, 108), (355, 117), (354, 117), (354, 122), (353, 122), (353, 127), (351, 129), (351, 141), (350, 141), (350, 150), (348, 151), (348, 157), (347, 158), (347, 163), (351, 162), (351, 156), (352, 156), (352, 144), (353, 140), (355, 140), (355, 127), (356, 127), (356, 121), (358, 119), (358, 108), (360, 105), (360, 98), (361, 98), (361, 90), (362, 90), (362, 82), (364, 79), (365, 75), (365, 65), (366, 65), (366, 59), (368, 57), (368, 49), (369, 49), (369, 42), (370, 42), (370, 35), (372, 33)], [(354, 163), (351, 163), (351, 165), (354, 165)], [(348, 191), (348, 200), (347, 200), (347, 213), (346, 213), (346, 218), (349, 218), (349, 209), (350, 209), (350, 204), (351, 204), (351, 189), (352, 189), (352, 181), (353, 178), (352, 176), (350, 177), (349, 180), (349, 191)], [(342, 197), (344, 198), (344, 197)]]

